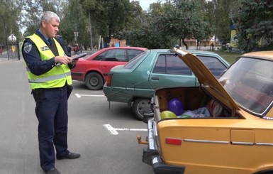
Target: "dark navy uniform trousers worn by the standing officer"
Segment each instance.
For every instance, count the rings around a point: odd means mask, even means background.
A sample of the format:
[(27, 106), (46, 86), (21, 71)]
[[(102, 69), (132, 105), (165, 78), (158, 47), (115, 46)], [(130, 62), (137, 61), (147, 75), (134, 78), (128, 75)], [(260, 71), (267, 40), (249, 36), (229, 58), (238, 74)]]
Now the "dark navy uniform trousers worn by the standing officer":
[(33, 89), (38, 118), (40, 166), (43, 170), (55, 168), (56, 156), (67, 151), (67, 86), (51, 89)]

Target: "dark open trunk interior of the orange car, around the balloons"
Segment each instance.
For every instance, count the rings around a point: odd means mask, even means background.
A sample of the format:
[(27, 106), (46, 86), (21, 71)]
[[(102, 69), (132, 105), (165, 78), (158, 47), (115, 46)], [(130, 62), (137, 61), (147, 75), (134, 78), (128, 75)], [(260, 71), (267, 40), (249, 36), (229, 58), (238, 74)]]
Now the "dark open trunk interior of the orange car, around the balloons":
[(182, 102), (183, 112), (182, 114), (176, 115), (177, 119), (240, 117), (240, 114), (232, 114), (233, 111), (231, 109), (225, 107), (223, 104), (221, 104), (221, 102), (216, 101), (216, 99), (212, 99), (200, 87), (172, 87), (157, 89), (155, 91), (155, 95), (152, 98), (152, 103), (156, 121), (160, 121), (161, 119), (169, 119), (162, 118), (161, 113), (165, 111), (172, 112), (172, 109), (168, 108), (170, 107), (169, 102), (172, 99), (177, 99)]

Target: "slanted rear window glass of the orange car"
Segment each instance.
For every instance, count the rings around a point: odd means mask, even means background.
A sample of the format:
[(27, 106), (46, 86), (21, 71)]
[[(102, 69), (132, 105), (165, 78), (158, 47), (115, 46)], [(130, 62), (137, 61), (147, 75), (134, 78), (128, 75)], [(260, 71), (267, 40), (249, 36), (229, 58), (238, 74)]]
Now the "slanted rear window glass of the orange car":
[(240, 58), (219, 82), (240, 107), (258, 116), (267, 113), (273, 99), (273, 62)]

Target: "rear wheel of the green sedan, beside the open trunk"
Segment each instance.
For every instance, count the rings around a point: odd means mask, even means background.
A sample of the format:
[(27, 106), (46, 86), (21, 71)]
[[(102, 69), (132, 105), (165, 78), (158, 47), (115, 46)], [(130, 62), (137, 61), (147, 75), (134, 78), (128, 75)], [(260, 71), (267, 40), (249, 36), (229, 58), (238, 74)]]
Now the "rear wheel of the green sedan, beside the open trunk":
[(135, 99), (132, 109), (134, 116), (139, 120), (143, 120), (143, 114), (152, 112), (151, 100)]

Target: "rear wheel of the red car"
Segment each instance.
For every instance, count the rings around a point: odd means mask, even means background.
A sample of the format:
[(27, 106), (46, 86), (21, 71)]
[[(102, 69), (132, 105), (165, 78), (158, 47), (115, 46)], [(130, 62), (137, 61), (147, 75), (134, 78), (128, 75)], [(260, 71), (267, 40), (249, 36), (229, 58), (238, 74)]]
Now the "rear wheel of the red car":
[(85, 86), (91, 90), (99, 90), (104, 86), (104, 78), (97, 72), (90, 72), (85, 78)]

